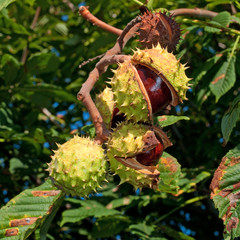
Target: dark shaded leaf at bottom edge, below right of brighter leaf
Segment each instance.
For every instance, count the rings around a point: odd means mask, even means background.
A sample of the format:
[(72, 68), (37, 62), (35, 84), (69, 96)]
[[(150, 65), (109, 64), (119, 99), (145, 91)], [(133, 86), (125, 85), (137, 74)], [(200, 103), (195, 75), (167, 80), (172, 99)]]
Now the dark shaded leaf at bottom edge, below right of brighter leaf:
[(127, 216), (113, 215), (100, 218), (91, 231), (94, 238), (112, 237), (127, 228), (130, 224)]

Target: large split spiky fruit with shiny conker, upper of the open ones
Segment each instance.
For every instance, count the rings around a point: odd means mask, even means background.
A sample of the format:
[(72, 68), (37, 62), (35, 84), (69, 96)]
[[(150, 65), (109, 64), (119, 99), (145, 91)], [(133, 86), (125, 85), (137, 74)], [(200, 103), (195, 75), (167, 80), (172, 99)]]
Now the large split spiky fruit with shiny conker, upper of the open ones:
[(126, 120), (152, 124), (153, 114), (186, 98), (185, 66), (160, 45), (137, 50), (111, 79), (115, 107)]

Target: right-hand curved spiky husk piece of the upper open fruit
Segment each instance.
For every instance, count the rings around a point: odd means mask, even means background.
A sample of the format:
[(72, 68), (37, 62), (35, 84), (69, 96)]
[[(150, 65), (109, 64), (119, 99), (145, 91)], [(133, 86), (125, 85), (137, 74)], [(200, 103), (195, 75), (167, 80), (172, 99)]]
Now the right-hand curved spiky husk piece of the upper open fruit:
[(158, 44), (152, 49), (135, 51), (132, 61), (161, 73), (174, 87), (180, 100), (187, 100), (186, 92), (189, 89), (190, 78), (185, 74), (185, 66), (172, 53)]

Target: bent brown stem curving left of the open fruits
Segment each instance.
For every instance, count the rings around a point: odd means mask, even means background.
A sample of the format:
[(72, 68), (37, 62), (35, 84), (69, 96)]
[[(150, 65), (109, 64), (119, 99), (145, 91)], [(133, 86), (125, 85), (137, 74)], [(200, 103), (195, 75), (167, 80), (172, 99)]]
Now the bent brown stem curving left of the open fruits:
[(109, 57), (103, 57), (89, 74), (87, 81), (82, 85), (81, 90), (78, 92), (77, 98), (79, 101), (82, 101), (85, 107), (87, 108), (93, 124), (96, 129), (96, 141), (99, 144), (105, 142), (109, 136), (109, 130), (106, 128), (102, 116), (99, 113), (95, 103), (93, 102), (90, 91), (92, 90), (94, 84), (99, 79), (99, 76), (106, 71), (107, 66), (123, 62), (126, 59), (129, 59), (129, 56), (126, 55), (114, 55)]

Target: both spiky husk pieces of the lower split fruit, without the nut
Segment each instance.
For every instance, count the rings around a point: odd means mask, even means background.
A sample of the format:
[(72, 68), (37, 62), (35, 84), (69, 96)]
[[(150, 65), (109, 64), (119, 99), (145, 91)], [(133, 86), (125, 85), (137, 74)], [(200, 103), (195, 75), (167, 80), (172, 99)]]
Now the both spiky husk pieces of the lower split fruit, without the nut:
[(152, 132), (149, 126), (132, 122), (119, 124), (107, 144), (110, 169), (119, 175), (121, 183), (128, 182), (134, 188), (152, 187), (154, 179), (133, 168), (127, 167), (115, 157), (127, 158), (142, 153), (144, 136)]

